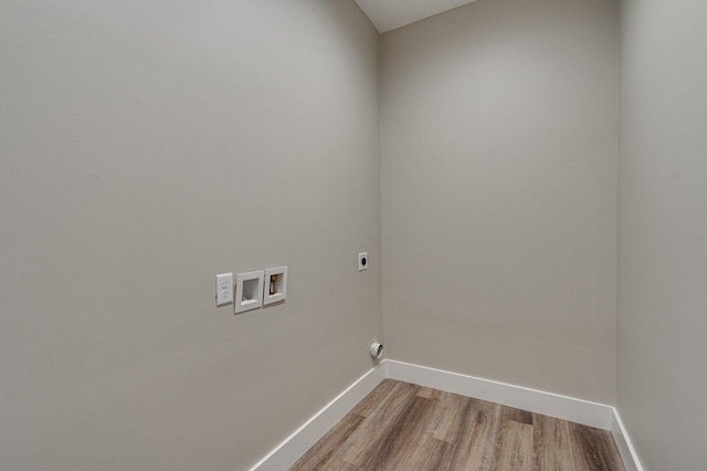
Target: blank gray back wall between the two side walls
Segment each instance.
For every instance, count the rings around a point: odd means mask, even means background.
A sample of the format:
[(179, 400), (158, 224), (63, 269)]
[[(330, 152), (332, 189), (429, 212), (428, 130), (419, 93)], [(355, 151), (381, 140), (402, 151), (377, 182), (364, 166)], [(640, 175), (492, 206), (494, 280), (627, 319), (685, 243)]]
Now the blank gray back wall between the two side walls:
[(481, 0), (382, 36), (390, 357), (612, 404), (612, 0)]

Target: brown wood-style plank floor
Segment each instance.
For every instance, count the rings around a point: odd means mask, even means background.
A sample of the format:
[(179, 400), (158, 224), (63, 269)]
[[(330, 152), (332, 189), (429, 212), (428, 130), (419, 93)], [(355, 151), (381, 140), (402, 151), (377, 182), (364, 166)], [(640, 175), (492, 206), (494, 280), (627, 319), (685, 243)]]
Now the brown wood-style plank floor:
[(605, 430), (386, 379), (291, 471), (624, 471)]

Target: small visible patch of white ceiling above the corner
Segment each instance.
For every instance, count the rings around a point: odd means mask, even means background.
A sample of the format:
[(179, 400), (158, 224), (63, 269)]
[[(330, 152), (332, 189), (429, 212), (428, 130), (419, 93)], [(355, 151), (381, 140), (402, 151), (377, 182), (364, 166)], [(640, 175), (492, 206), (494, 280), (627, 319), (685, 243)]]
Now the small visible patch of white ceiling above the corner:
[(356, 0), (379, 32), (394, 30), (476, 0)]

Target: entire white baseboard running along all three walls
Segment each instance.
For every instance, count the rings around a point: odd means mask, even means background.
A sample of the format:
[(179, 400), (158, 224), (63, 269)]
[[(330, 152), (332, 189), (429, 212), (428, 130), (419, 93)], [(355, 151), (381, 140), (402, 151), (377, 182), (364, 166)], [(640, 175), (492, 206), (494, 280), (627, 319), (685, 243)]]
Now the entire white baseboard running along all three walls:
[(621, 417), (612, 406), (390, 359), (357, 379), (250, 471), (282, 471), (289, 468), (386, 378), (610, 430), (626, 471), (643, 471)]

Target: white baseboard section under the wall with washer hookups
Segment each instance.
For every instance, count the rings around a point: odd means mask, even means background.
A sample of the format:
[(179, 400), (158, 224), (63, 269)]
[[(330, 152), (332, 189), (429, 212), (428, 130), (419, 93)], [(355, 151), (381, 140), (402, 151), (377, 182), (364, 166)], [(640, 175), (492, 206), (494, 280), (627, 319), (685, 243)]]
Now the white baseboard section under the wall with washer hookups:
[(293, 465), (383, 379), (384, 369), (380, 366), (369, 370), (267, 453), (251, 471), (283, 471)]

